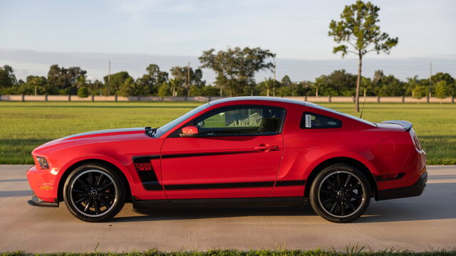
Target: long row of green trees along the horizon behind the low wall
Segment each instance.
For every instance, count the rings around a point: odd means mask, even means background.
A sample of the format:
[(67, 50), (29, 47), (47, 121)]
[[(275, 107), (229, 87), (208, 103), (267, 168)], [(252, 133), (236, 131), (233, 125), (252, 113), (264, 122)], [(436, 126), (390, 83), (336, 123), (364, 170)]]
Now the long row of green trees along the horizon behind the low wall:
[[(205, 52), (204, 58), (213, 54)], [(267, 54), (266, 54), (267, 55)], [(265, 55), (265, 56), (266, 56)], [(270, 55), (269, 55), (270, 56)], [(210, 57), (209, 57), (210, 58)], [(222, 60), (224, 58), (221, 58)], [(205, 60), (203, 60), (204, 63)], [(214, 63), (217, 63), (216, 60)], [(221, 61), (221, 60), (220, 60)], [(203, 80), (202, 69), (188, 66), (175, 66), (169, 72), (160, 70), (155, 64), (145, 68), (145, 74), (133, 78), (127, 71), (120, 71), (103, 80), (87, 79), (87, 71), (79, 67), (64, 68), (51, 65), (47, 76), (29, 75), (26, 80), (17, 80), (9, 65), (0, 67), (0, 95), (119, 95), (119, 96), (354, 96), (356, 95), (357, 75), (346, 70), (334, 70), (313, 81), (292, 81), (288, 75), (279, 80), (266, 78), (261, 82), (254, 79), (255, 71), (274, 68), (272, 63), (256, 62), (248, 65), (251, 70), (219, 68), (213, 84)], [(259, 65), (261, 64), (261, 65)], [(219, 65), (219, 64), (210, 64)], [(202, 67), (210, 68), (209, 64)], [(217, 67), (218, 68), (218, 67)], [(420, 79), (415, 75), (407, 80), (399, 80), (394, 75), (375, 71), (372, 78), (361, 77), (361, 95), (366, 96), (411, 96), (422, 98), (429, 95), (445, 98), (456, 96), (455, 78), (448, 73), (436, 73), (432, 77)], [(430, 90), (430, 91), (429, 91)]]

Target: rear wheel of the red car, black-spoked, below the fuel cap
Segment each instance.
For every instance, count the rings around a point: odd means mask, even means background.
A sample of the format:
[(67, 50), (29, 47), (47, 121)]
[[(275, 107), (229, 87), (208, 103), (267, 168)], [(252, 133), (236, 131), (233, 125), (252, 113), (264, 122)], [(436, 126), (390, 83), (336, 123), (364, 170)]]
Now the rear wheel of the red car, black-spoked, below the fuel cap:
[(368, 178), (348, 164), (332, 164), (314, 179), (311, 206), (325, 220), (348, 223), (359, 218), (371, 202)]

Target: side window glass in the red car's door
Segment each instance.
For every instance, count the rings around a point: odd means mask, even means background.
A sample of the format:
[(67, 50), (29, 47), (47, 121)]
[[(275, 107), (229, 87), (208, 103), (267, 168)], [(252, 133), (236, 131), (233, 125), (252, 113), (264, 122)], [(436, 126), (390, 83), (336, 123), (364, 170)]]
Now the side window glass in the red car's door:
[(237, 107), (220, 110), (195, 121), (202, 136), (278, 134), (284, 110), (274, 107)]

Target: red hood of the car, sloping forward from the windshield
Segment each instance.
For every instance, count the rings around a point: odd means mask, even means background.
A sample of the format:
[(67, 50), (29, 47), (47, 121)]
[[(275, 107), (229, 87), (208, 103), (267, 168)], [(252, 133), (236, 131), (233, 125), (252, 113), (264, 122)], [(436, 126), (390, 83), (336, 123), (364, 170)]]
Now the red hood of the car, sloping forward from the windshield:
[(100, 142), (113, 142), (135, 139), (153, 139), (145, 134), (145, 127), (124, 128), (124, 129), (105, 129), (93, 132), (83, 132), (73, 134), (60, 139), (46, 142), (33, 150), (32, 154), (47, 151), (48, 149), (76, 146), (78, 144), (91, 144)]

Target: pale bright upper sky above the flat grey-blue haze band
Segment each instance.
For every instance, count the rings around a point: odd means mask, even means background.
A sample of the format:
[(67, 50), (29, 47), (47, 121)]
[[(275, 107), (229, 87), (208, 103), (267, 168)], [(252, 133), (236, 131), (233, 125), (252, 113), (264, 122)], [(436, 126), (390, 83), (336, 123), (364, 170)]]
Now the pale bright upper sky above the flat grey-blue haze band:
[[(353, 1), (11, 1), (0, 9), (0, 48), (199, 55), (260, 46), (279, 58), (341, 59), (328, 24)], [(378, 1), (380, 27), (399, 37), (389, 58), (455, 54), (456, 1)], [(453, 11), (454, 12), (454, 11)], [(2, 26), (3, 24), (3, 26)], [(21, 31), (21, 33), (18, 33)], [(38, 38), (38, 39), (37, 39)], [(385, 55), (369, 55), (384, 58)]]

